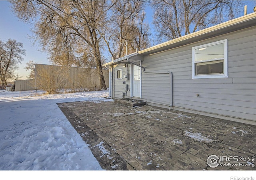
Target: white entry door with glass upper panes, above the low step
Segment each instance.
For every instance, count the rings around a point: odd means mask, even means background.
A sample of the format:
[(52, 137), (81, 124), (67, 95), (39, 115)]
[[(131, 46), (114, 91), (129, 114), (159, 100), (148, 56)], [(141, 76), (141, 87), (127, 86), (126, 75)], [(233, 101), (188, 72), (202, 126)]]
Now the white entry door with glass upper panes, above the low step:
[(140, 67), (133, 65), (133, 79), (132, 79), (132, 96), (141, 98), (141, 87), (140, 87)]

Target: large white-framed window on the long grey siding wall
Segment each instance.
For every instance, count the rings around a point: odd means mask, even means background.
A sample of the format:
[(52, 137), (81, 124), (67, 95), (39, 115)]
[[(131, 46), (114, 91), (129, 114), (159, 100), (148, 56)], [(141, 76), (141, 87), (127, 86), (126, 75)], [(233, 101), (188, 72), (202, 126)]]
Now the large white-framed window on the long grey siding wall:
[(228, 40), (192, 48), (192, 78), (228, 77)]

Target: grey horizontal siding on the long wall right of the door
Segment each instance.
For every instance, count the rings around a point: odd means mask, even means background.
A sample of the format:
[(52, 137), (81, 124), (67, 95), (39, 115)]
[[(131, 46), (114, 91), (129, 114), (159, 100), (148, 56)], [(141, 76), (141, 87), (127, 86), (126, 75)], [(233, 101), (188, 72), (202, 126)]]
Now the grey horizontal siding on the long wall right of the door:
[[(255, 28), (145, 56), (142, 66), (146, 71), (173, 73), (173, 106), (256, 121)], [(192, 79), (192, 47), (224, 39), (228, 39), (228, 78)], [(142, 98), (168, 106), (167, 77), (143, 73)]]

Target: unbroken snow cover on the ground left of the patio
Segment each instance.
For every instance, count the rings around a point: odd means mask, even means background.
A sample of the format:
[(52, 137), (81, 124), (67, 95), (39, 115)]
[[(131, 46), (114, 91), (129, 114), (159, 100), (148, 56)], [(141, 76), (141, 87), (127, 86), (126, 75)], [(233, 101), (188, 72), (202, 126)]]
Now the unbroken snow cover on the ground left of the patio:
[(106, 96), (108, 91), (19, 98), (19, 92), (1, 90), (0, 170), (102, 170), (56, 103), (108, 101)]

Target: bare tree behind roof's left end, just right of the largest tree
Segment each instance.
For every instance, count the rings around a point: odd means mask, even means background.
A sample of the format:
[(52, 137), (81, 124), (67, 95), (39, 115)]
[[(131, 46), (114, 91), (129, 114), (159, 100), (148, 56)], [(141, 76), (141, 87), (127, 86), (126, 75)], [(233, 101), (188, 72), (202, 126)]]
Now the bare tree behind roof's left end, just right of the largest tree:
[(111, 8), (108, 26), (102, 29), (102, 37), (114, 59), (150, 46), (149, 26), (144, 22), (146, 2), (139, 0), (116, 1)]

